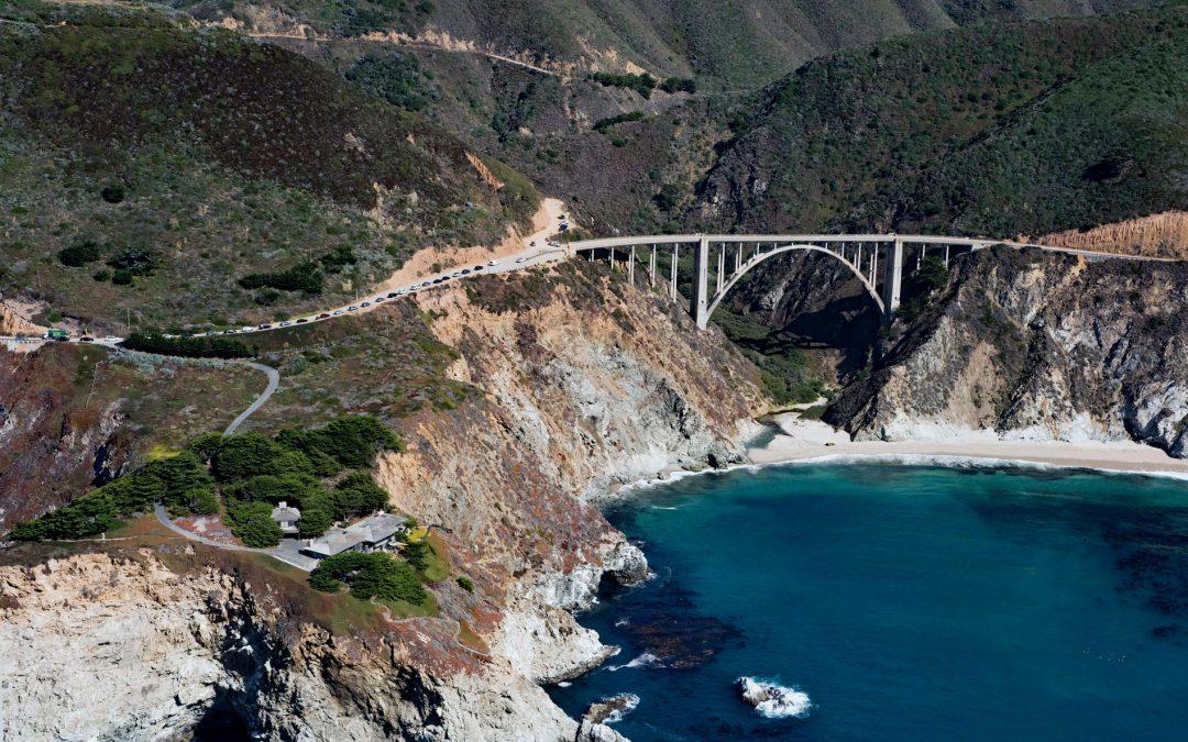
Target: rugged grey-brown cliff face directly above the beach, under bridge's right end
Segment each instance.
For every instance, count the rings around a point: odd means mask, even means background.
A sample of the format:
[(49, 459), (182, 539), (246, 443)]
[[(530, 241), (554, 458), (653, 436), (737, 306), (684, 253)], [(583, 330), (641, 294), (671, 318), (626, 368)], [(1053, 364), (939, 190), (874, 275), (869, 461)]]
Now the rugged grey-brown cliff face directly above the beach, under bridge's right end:
[(993, 249), (826, 414), (860, 439), (1138, 440), (1188, 457), (1188, 264)]

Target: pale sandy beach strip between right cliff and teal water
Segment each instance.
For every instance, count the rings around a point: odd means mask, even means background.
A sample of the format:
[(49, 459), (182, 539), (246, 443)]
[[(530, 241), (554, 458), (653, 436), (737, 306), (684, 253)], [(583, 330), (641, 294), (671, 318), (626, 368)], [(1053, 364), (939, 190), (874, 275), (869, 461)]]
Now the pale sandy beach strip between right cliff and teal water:
[(796, 413), (775, 418), (782, 433), (747, 454), (757, 464), (782, 462), (876, 457), (887, 459), (934, 459), (1029, 462), (1053, 467), (1161, 474), (1188, 480), (1188, 461), (1171, 458), (1159, 449), (1139, 443), (1095, 443), (1064, 440), (1000, 440), (992, 432), (956, 435), (943, 440), (853, 442), (820, 420), (801, 420)]

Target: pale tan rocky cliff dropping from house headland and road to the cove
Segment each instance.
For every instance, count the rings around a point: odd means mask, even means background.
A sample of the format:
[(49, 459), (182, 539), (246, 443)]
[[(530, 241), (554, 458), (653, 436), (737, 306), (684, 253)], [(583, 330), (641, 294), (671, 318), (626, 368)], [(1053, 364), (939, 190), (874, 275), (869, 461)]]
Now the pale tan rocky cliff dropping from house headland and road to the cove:
[[(428, 318), (465, 392), (393, 419), (407, 451), (384, 457), (378, 476), (474, 591), (447, 581), (434, 586), (435, 617), (343, 623), (302, 575), (189, 543), (183, 553), (173, 538), (74, 545), (84, 553), (55, 560), (10, 551), (0, 645), (6, 677), (24, 680), (0, 685), (5, 718), (19, 719), (0, 738), (153, 738), (228, 719), (270, 740), (614, 738), (589, 721), (580, 730), (538, 685), (609, 654), (571, 611), (604, 576), (646, 573), (584, 497), (740, 458), (738, 438), (765, 404), (754, 369), (602, 266), (418, 300), (419, 312), (390, 306), (360, 322)], [(278, 357), (289, 378), (309, 366), (292, 348)], [(352, 410), (388, 394), (371, 372), (352, 393), (341, 400)], [(291, 419), (292, 395), (282, 388), (272, 413)]]

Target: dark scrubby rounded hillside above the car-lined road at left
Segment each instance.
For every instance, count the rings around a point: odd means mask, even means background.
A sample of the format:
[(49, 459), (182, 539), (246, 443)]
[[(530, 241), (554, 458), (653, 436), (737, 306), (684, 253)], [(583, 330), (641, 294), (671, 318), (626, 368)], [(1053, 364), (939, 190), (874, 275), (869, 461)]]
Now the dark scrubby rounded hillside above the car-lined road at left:
[(536, 208), (506, 166), (493, 190), (459, 139), (279, 47), (131, 9), (5, 13), (0, 290), (45, 319), (271, 319)]

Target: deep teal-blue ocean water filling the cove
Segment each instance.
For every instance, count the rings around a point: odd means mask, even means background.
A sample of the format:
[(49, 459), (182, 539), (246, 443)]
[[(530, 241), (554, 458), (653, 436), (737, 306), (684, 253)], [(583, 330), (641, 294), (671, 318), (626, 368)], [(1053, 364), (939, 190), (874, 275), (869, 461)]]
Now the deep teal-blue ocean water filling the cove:
[(550, 695), (638, 696), (613, 724), (636, 742), (1188, 740), (1182, 481), (792, 465), (607, 515), (656, 577), (580, 616), (621, 652)]

